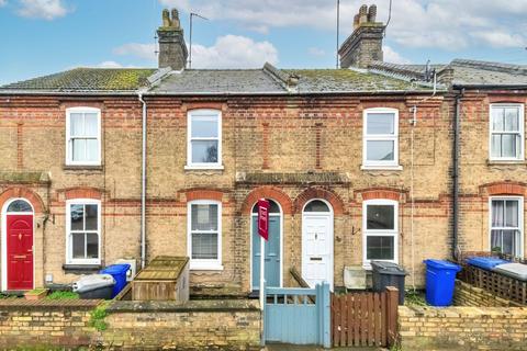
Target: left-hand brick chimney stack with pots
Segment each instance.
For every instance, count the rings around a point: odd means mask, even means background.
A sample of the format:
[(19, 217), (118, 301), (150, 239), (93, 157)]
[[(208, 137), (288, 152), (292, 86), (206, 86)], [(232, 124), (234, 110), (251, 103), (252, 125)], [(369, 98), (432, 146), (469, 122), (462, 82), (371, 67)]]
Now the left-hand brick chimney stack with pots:
[(162, 10), (162, 25), (157, 30), (159, 38), (159, 68), (170, 67), (181, 70), (187, 66), (189, 53), (184, 44), (179, 12)]

